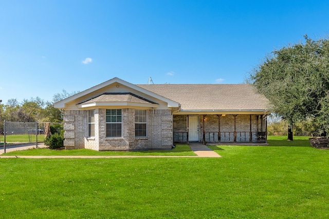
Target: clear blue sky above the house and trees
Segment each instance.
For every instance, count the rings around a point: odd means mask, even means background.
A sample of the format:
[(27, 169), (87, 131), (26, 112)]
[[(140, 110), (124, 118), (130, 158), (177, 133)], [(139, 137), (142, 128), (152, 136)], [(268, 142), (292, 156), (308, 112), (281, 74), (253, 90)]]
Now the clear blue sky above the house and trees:
[(327, 37), (329, 1), (3, 1), (0, 99), (133, 84), (237, 84), (266, 54)]

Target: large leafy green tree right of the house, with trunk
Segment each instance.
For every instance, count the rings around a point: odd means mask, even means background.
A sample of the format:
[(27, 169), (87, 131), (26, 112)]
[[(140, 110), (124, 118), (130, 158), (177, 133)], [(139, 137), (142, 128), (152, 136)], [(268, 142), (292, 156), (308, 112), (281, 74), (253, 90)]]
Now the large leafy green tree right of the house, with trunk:
[(313, 40), (283, 47), (267, 55), (248, 78), (270, 101), (272, 111), (289, 124), (313, 118), (329, 129), (329, 40)]

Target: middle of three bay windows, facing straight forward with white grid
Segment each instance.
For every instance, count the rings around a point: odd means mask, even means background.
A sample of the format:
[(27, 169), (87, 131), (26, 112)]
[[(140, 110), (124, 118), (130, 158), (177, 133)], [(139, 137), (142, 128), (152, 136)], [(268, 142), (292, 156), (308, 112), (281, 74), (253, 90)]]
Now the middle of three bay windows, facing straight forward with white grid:
[(106, 110), (106, 137), (121, 137), (122, 113), (121, 109)]

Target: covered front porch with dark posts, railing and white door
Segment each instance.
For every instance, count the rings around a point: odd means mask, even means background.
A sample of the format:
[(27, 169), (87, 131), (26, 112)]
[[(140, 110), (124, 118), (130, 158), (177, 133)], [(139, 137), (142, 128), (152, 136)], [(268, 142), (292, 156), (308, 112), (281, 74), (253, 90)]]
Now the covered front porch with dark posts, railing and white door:
[(267, 143), (266, 114), (194, 114), (173, 116), (174, 143)]

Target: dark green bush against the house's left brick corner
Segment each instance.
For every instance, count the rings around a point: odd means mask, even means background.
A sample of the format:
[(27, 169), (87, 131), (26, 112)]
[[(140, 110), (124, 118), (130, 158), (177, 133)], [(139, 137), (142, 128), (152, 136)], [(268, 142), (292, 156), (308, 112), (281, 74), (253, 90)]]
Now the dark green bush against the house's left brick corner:
[(50, 149), (58, 149), (64, 147), (64, 128), (61, 124), (54, 124), (50, 127), (52, 135), (45, 138), (45, 145), (49, 146)]

